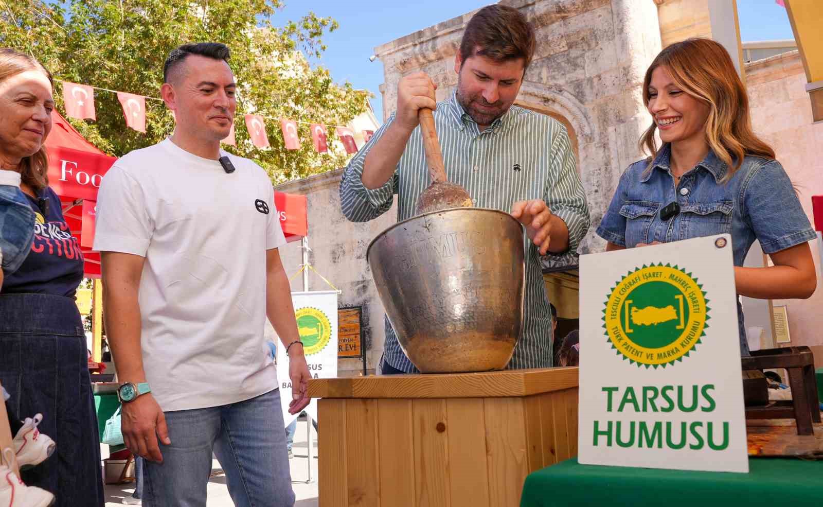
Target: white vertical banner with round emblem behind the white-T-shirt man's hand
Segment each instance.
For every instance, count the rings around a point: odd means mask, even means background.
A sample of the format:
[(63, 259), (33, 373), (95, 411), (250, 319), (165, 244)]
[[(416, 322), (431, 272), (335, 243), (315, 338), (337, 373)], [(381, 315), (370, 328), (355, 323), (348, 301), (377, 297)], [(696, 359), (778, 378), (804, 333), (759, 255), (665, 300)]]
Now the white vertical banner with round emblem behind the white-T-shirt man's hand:
[[(309, 373), (313, 379), (337, 377), (337, 291), (292, 292), (295, 319)], [(280, 399), (283, 421), (286, 426), (297, 418), (289, 413), (291, 403), (291, 379), (289, 356), (286, 347), (277, 347), (277, 380), (280, 382)], [(317, 400), (305, 408), (309, 417), (317, 421)]]

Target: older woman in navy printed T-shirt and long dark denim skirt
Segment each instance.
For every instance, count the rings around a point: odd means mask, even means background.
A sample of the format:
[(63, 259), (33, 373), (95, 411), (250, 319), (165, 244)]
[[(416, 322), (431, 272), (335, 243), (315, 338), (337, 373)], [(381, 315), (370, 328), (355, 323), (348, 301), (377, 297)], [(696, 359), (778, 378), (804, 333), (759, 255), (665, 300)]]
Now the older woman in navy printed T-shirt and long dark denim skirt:
[(24, 53), (0, 49), (0, 174), (19, 174), (20, 202), (35, 215), (31, 251), (5, 273), (0, 290), (0, 382), (13, 412), (26, 417), (26, 446), (42, 445), (38, 430), (57, 443), (43, 463), (42, 454), (21, 463), (37, 465), (22, 472), (26, 484), (51, 491), (57, 505), (98, 506), (105, 500), (97, 418), (74, 301), (83, 258), (49, 188), (43, 147), (53, 107), (49, 72)]

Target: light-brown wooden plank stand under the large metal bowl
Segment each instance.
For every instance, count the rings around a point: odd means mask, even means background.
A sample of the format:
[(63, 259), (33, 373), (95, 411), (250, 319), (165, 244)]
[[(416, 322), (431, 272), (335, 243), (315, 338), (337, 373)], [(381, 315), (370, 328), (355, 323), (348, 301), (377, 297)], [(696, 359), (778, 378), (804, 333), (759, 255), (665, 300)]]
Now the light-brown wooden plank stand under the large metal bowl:
[(314, 379), (320, 507), (518, 507), (577, 454), (578, 368)]

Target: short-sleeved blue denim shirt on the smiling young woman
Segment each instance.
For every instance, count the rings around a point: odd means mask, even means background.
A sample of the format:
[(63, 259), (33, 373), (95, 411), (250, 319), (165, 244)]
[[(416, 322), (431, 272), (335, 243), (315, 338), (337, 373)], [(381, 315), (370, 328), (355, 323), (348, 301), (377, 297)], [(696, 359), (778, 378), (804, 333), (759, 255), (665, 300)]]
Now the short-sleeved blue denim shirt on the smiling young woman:
[[(732, 235), (734, 265), (742, 266), (755, 240), (766, 254), (816, 238), (794, 193), (792, 182), (777, 160), (746, 156), (725, 183), (728, 170), (709, 154), (683, 174), (675, 188), (668, 144), (658, 152), (652, 169), (648, 160), (630, 165), (621, 176), (597, 235), (611, 243), (635, 247), (638, 243), (687, 240), (728, 233)], [(663, 221), (660, 210), (677, 201), (680, 212)], [(742, 307), (737, 303), (740, 347), (748, 355)]]

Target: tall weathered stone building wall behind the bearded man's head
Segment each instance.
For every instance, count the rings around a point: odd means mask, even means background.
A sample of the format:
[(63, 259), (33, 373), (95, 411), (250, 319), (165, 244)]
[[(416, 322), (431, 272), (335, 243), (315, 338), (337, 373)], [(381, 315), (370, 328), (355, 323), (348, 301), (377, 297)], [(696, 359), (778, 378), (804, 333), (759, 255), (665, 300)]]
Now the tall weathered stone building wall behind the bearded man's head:
[[(638, 0), (501, 0), (536, 27), (537, 50), (518, 105), (560, 118), (574, 132), (592, 228), (583, 253), (605, 243), (594, 234), (620, 174), (641, 158), (649, 115), (640, 94), (644, 72), (660, 51), (658, 7)], [(457, 85), (454, 57), (473, 12), (375, 49), (384, 63), (384, 117), (397, 105), (398, 81), (424, 71), (443, 100)]]

